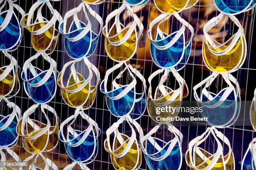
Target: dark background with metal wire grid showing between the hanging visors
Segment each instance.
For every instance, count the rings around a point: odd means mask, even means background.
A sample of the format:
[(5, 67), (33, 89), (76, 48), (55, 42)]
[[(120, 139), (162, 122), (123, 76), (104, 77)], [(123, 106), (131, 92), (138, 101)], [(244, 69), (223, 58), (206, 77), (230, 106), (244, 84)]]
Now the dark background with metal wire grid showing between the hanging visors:
[[(30, 3), (29, 3), (30, 2)], [(26, 12), (28, 12), (29, 8), (31, 7), (31, 5), (33, 3), (35, 3), (36, 0), (33, 0), (32, 2), (29, 0), (26, 0), (25, 3), (25, 8), (23, 8)], [(55, 3), (58, 4), (58, 2), (53, 2), (53, 6), (56, 9), (56, 5), (54, 5)], [(62, 17), (64, 16), (64, 14), (67, 12), (66, 9), (63, 8), (63, 4), (67, 4), (67, 10), (69, 8), (69, 5), (72, 5), (72, 3), (74, 3), (74, 6), (72, 6), (71, 8), (74, 8), (75, 6), (77, 6), (78, 3), (80, 3), (80, 0), (74, 0), (73, 2), (70, 2), (70, 0), (67, 0), (66, 2), (64, 2), (63, 0), (61, 0), (61, 3), (59, 3), (59, 12), (61, 13), (61, 9), (62, 9)], [(118, 4), (118, 6), (120, 6), (123, 2), (112, 2), (112, 1), (105, 1), (104, 3), (102, 3), (101, 5), (95, 5), (96, 11), (100, 12), (99, 9), (103, 9), (102, 11), (102, 18), (106, 18), (106, 16), (108, 15), (110, 10), (113, 10), (113, 4)], [(22, 1), (19, 1), (19, 5), (22, 6), (24, 5)], [(150, 10), (151, 10), (151, 6), (154, 5), (154, 3), (147, 3), (147, 5), (149, 6), (149, 10), (148, 10), (148, 19), (149, 19), (149, 15), (150, 15)], [(94, 5), (91, 5), (94, 6)], [(199, 25), (199, 21), (200, 21), (200, 8), (207, 8), (207, 10), (209, 10), (210, 7), (214, 7), (214, 5), (210, 5), (210, 0), (209, 0), (209, 4), (208, 5), (201, 5), (201, 1), (199, 1), (197, 3), (197, 5), (194, 5), (194, 7), (192, 8), (198, 8), (198, 15), (197, 15), (197, 28)], [(70, 10), (70, 9), (69, 9)], [(189, 23), (190, 21), (190, 10), (189, 9), (189, 20), (187, 20), (187, 22)], [(143, 10), (141, 10), (141, 15), (143, 13)], [(160, 13), (159, 11), (157, 11), (157, 13)], [(246, 83), (245, 83), (245, 92), (244, 92), (244, 100), (251, 100), (252, 99), (252, 94), (253, 94), (253, 90), (250, 89), (250, 91), (248, 90), (248, 85), (250, 85), (250, 83), (253, 83), (253, 81), (250, 81), (249, 79), (249, 75), (253, 75), (253, 74), (249, 74), (249, 71), (251, 71), (252, 73), (254, 73), (254, 71), (256, 70), (256, 66), (254, 64), (252, 64), (252, 66), (250, 66), (250, 61), (251, 61), (251, 49), (253, 49), (253, 28), (254, 28), (254, 18), (255, 18), (255, 10), (253, 9), (251, 12), (248, 13), (244, 13), (243, 15), (243, 23), (245, 23), (245, 25), (243, 25), (243, 28), (245, 28), (245, 33), (246, 33), (246, 39), (247, 39), (247, 46), (248, 46), (248, 54), (247, 54), (247, 59), (246, 59), (246, 63), (243, 65), (243, 67), (241, 69), (239, 69), (238, 72), (240, 71), (246, 71)], [(216, 13), (217, 16), (217, 13)], [(20, 16), (18, 16), (18, 18), (20, 19)], [(208, 13), (206, 16), (207, 20), (208, 19)], [(251, 18), (251, 20), (248, 20), (248, 18)], [(103, 19), (105, 20), (105, 19)], [(248, 21), (250, 21), (250, 23), (248, 23)], [(147, 23), (147, 25), (144, 25), (144, 29), (148, 28), (149, 23)], [(195, 29), (195, 39), (197, 37), (197, 28)], [(246, 28), (248, 28), (248, 30), (246, 30)], [(247, 36), (247, 35), (251, 35), (251, 36)], [(147, 36), (147, 35), (143, 35), (143, 36)], [(30, 37), (29, 37), (30, 38)], [(28, 36), (25, 34), (23, 34), (23, 42), (28, 40)], [(148, 39), (146, 38), (146, 42), (148, 41)], [(30, 43), (30, 42), (29, 42)], [(61, 44), (60, 44), (61, 43)], [(197, 43), (197, 42), (195, 42)], [(21, 48), (21, 49), (20, 49)], [(23, 50), (22, 50), (23, 48)], [(147, 47), (145, 47), (147, 48)], [(193, 47), (194, 50), (196, 49), (196, 47)], [(145, 56), (144, 58), (136, 58), (136, 56), (134, 56), (133, 58), (131, 58), (130, 61), (135, 61), (136, 62), (136, 67), (138, 66), (138, 62), (142, 61), (144, 63), (144, 66), (151, 66), (151, 71), (150, 74), (152, 73), (152, 70), (154, 69), (154, 63), (149, 60), (146, 59), (146, 50), (145, 49)], [(30, 52), (28, 52), (30, 51)], [(13, 52), (16, 54), (17, 56), (17, 60), (18, 61), (22, 61), (23, 63), (25, 62), (25, 58), (32, 56), (33, 55), (33, 47), (27, 45), (27, 44), (21, 44), (19, 46), (19, 50), (17, 52)], [(254, 52), (254, 51), (253, 51)], [(13, 54), (12, 53), (12, 54)], [(137, 53), (138, 53), (138, 49), (137, 49)], [(26, 57), (25, 57), (26, 56)], [(64, 64), (64, 59), (67, 56), (65, 55), (65, 50), (64, 50), (64, 46), (63, 46), (63, 37), (59, 36), (59, 41), (57, 42), (57, 46), (55, 49), (55, 52), (52, 53), (50, 55), (52, 58), (55, 59), (57, 65), (59, 68), (61, 68), (60, 66), (63, 66)], [(108, 56), (105, 53), (105, 47), (104, 47), (104, 36), (101, 36), (101, 38), (99, 39), (99, 43), (98, 43), (98, 50), (92, 55), (92, 58), (98, 58), (97, 64), (96, 66), (106, 66), (104, 68), (103, 74), (101, 72), (101, 78), (104, 77), (104, 73), (105, 71), (108, 69), (108, 66), (114, 66), (114, 63), (112, 63), (110, 61), (110, 59), (107, 59)], [(192, 66), (192, 78), (191, 79), (191, 86), (189, 88), (189, 92), (190, 92), (190, 100), (194, 100), (194, 97), (192, 94), (192, 87), (197, 84), (198, 82), (193, 82), (194, 81), (194, 77), (199, 77), (199, 75), (195, 75), (194, 70), (196, 69), (195, 67), (201, 66), (201, 70), (202, 70), (202, 74), (201, 74), (201, 80), (203, 79), (203, 73), (206, 73), (206, 71), (203, 69), (204, 64), (203, 63), (195, 63), (195, 52), (191, 53), (190, 55), (190, 61), (193, 60), (192, 63), (187, 63), (187, 65)], [(253, 60), (252, 60), (253, 62)], [(5, 63), (5, 61), (3, 62)], [(110, 64), (109, 64), (110, 63)], [(149, 63), (149, 64), (148, 64)], [(151, 63), (151, 64), (150, 64)], [(20, 64), (20, 63), (19, 63)], [(40, 64), (40, 63), (38, 63)], [(20, 65), (20, 67), (22, 67), (22, 65)], [(44, 67), (44, 63), (43, 63), (43, 67)], [(59, 69), (58, 70), (61, 70)], [(145, 72), (148, 71), (149, 67), (143, 67), (143, 76), (145, 75)], [(183, 69), (184, 71), (181, 71), (183, 74), (181, 74), (183, 77), (185, 77), (186, 75), (190, 75), (191, 72), (186, 72), (186, 67)], [(149, 71), (148, 71), (149, 72)], [(145, 79), (147, 80), (148, 77), (144, 76)], [(237, 76), (237, 78), (239, 78), (239, 74)], [(113, 79), (113, 77), (112, 77)], [(185, 79), (186, 82), (189, 82), (189, 79)], [(22, 81), (20, 81), (20, 84), (22, 84)], [(148, 85), (148, 84), (147, 84)], [(253, 87), (254, 88), (254, 87)], [(28, 109), (28, 107), (33, 103), (31, 101), (31, 99), (29, 99), (26, 94), (23, 94), (24, 92), (24, 88), (22, 85), (22, 88), (20, 88), (20, 93), (17, 96), (13, 97), (13, 102), (17, 103), (17, 105), (19, 107), (21, 107), (22, 109), (22, 113)], [(248, 93), (248, 94), (247, 94)], [(62, 101), (61, 97), (59, 96), (60, 94), (58, 93), (58, 90), (56, 92), (56, 96), (54, 97), (54, 99), (52, 101), (49, 102), (49, 105), (54, 106), (54, 109), (56, 109), (56, 112), (58, 110), (58, 108), (60, 108), (60, 112), (57, 112), (57, 114), (60, 117), (60, 122), (63, 121), (64, 119), (64, 114), (67, 113), (67, 117), (71, 114), (73, 114), (74, 109), (67, 107), (67, 105)], [(93, 107), (91, 107), (90, 109), (88, 109), (88, 114), (92, 119), (95, 119), (97, 124), (99, 125), (99, 127), (102, 129), (103, 134), (100, 135), (99, 137), (99, 150), (98, 150), (98, 155), (95, 159), (95, 161), (93, 161), (90, 165), (88, 165), (88, 167), (90, 167), (90, 169), (107, 169), (111, 170), (113, 169), (110, 157), (108, 155), (107, 152), (105, 152), (104, 147), (103, 147), (103, 141), (105, 140), (105, 134), (104, 131), (111, 126), (111, 124), (113, 124), (113, 122), (116, 122), (115, 117), (113, 117), (110, 112), (108, 111), (107, 107), (105, 107), (105, 104), (102, 104), (103, 101), (103, 97), (102, 94), (100, 94), (99, 89), (97, 90), (97, 94), (96, 94), (96, 99), (95, 99), (95, 104), (93, 105)], [(105, 100), (105, 99), (104, 99)], [(28, 102), (27, 102), (28, 101)], [(104, 101), (105, 102), (105, 101)], [(67, 108), (67, 109), (66, 109)], [(3, 109), (1, 109), (2, 111)], [(240, 114), (243, 114), (243, 121), (245, 121), (246, 119), (246, 112), (245, 110), (240, 112)], [(34, 115), (35, 116), (35, 115)], [(148, 116), (147, 111), (145, 112), (145, 114), (143, 114), (142, 117), (145, 117), (145, 119), (147, 119), (147, 122), (145, 124), (145, 122), (142, 122), (141, 119), (137, 120), (137, 122), (139, 124), (141, 124), (141, 127), (144, 130), (144, 134), (146, 134), (150, 129), (151, 129), (151, 118)], [(108, 119), (109, 120), (109, 124), (105, 123), (105, 120)], [(190, 122), (188, 122), (190, 124)], [(187, 150), (188, 147), (188, 142), (195, 136), (198, 136), (201, 134), (200, 129), (206, 129), (207, 125), (206, 124), (202, 124), (202, 123), (197, 123), (197, 126), (186, 126), (187, 128), (187, 133), (184, 133), (184, 131), (182, 131), (184, 136), (187, 136), (187, 141), (183, 140), (182, 142), (182, 153), (183, 153), (183, 161), (182, 161), (182, 169), (189, 169), (186, 166), (186, 162), (184, 160), (184, 153)], [(180, 123), (180, 127), (177, 127), (178, 129), (182, 130), (184, 127), (182, 126), (182, 122)], [(234, 151), (235, 154), (235, 159), (236, 159), (236, 169), (239, 169), (240, 165), (238, 164), (239, 160), (241, 161), (243, 158), (243, 154), (245, 152), (245, 150), (248, 147), (249, 142), (251, 142), (251, 140), (253, 139), (253, 130), (246, 128), (246, 125), (243, 124), (242, 127), (236, 127), (236, 126), (231, 126), (228, 127), (226, 129), (224, 129), (225, 131), (229, 131), (231, 132), (231, 136), (228, 137), (228, 139), (230, 140), (230, 143), (232, 145), (232, 149)], [(237, 137), (237, 134), (242, 133), (242, 136)], [(163, 136), (164, 136), (165, 132), (163, 132)], [(225, 134), (226, 135), (226, 134)], [(240, 147), (237, 145), (234, 145), (234, 142), (240, 139), (239, 141), (241, 141), (241, 150)], [(187, 142), (187, 143), (186, 143)], [(22, 148), (22, 144), (21, 141), (19, 140), (19, 146), (18, 147), (18, 155), (22, 155), (23, 154), (23, 150)], [(61, 161), (63, 161), (63, 158), (66, 157), (66, 160), (64, 160), (64, 162), (66, 161), (67, 164), (70, 163), (70, 160), (68, 159), (68, 155), (66, 152), (62, 152), (61, 151), (61, 147), (60, 147), (61, 142), (59, 142), (58, 144), (58, 150), (54, 150), (54, 151), (50, 151), (47, 152), (47, 155), (45, 153), (45, 156), (48, 157), (49, 159), (53, 160), (57, 166), (61, 167)], [(209, 146), (210, 147), (210, 142), (209, 142)], [(63, 147), (62, 147), (63, 148)], [(241, 156), (239, 157), (239, 155), (236, 154), (236, 150), (239, 151), (239, 153), (241, 153)], [(49, 157), (49, 155), (51, 155), (51, 157)], [(57, 159), (54, 158), (54, 155), (58, 155)], [(108, 159), (105, 159), (105, 157), (108, 155)], [(144, 160), (144, 158), (143, 158)], [(238, 161), (237, 161), (238, 160)], [(69, 162), (69, 163), (68, 163)], [(100, 163), (100, 165), (99, 165)], [(140, 170), (144, 170), (144, 169), (148, 169), (146, 162), (143, 161), (141, 167), (139, 168)]]

